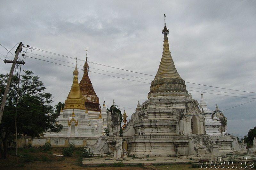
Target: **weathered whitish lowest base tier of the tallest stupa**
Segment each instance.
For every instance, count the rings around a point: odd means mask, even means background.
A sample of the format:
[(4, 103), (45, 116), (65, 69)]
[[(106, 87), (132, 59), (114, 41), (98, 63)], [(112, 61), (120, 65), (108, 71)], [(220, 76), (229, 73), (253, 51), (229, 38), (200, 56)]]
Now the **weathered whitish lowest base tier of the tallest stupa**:
[(233, 152), (232, 138), (209, 135), (134, 135), (124, 137), (128, 144), (129, 156), (167, 157), (196, 156), (214, 158)]

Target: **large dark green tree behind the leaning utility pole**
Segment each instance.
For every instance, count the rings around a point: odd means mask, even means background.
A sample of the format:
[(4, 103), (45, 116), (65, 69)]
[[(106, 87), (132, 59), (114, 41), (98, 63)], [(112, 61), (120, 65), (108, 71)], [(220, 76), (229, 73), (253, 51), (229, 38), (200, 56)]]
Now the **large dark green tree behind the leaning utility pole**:
[[(1, 155), (6, 159), (8, 141), (15, 134), (15, 112), (17, 109), (18, 136), (27, 135), (39, 137), (44, 132), (60, 132), (62, 125), (55, 124), (52, 95), (45, 93), (44, 84), (38, 76), (31, 71), (24, 71), (20, 78), (18, 104), (16, 105), (18, 81), (17, 76), (12, 77), (10, 89), (5, 103), (4, 114), (0, 124)], [(3, 98), (8, 74), (0, 75), (0, 100)], [(13, 140), (12, 140), (13, 141)], [(10, 142), (9, 142), (10, 143)]]

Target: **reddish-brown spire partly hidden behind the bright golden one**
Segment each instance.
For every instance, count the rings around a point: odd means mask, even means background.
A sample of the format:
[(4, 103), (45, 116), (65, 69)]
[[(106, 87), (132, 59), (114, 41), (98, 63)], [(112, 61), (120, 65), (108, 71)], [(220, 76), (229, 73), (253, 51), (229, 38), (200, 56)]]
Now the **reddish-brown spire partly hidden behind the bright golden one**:
[(92, 82), (88, 75), (88, 68), (89, 65), (87, 63), (87, 54), (86, 54), (86, 61), (84, 63), (84, 75), (82, 80), (79, 83), (81, 93), (84, 96), (84, 102), (86, 105), (86, 109), (88, 111), (99, 111), (100, 112), (100, 101), (99, 97), (96, 95), (93, 87)]

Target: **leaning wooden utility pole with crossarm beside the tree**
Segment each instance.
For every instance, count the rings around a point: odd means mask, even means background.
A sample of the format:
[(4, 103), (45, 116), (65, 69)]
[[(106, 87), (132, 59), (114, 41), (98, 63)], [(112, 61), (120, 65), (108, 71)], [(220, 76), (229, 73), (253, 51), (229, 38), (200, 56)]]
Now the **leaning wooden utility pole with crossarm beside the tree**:
[[(23, 44), (22, 44), (22, 42), (20, 42), (19, 46), (17, 47), (17, 49), (15, 51), (15, 57), (14, 57), (13, 61), (5, 60), (8, 63), (12, 63), (12, 67), (11, 67), (10, 74), (9, 74), (9, 77), (8, 77), (8, 80), (7, 80), (7, 84), (6, 84), (6, 88), (5, 88), (4, 96), (3, 96), (3, 101), (2, 101), (2, 104), (1, 104), (1, 108), (0, 108), (0, 124), (1, 124), (1, 121), (2, 121), (3, 113), (4, 113), (5, 101), (6, 101), (7, 94), (8, 94), (8, 91), (9, 91), (9, 88), (10, 88), (10, 84), (11, 84), (11, 80), (12, 80), (12, 74), (13, 74), (15, 65), (17, 63), (17, 59), (18, 59), (19, 53), (22, 50), (22, 46), (23, 46)], [(25, 64), (25, 62), (21, 63), (21, 64)]]

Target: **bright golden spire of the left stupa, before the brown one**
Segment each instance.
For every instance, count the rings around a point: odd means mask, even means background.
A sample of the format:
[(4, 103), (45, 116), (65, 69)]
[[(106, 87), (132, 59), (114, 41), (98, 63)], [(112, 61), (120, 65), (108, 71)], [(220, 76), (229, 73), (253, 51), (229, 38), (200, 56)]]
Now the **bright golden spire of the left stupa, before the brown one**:
[(82, 96), (82, 93), (78, 84), (77, 67), (75, 67), (73, 74), (74, 74), (73, 84), (71, 86), (67, 100), (65, 101), (64, 110), (65, 109), (85, 110), (84, 97)]

